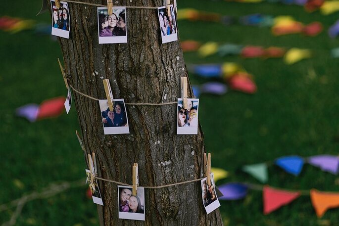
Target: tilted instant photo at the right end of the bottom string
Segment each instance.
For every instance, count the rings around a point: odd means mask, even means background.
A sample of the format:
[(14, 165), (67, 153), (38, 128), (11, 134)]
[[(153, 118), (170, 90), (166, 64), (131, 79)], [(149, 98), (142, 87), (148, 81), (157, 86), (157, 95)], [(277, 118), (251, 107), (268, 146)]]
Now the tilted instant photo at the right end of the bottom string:
[(207, 214), (209, 214), (220, 206), (215, 190), (213, 173), (211, 173), (211, 185), (207, 184), (207, 178), (201, 180), (201, 191), (202, 204), (205, 207)]

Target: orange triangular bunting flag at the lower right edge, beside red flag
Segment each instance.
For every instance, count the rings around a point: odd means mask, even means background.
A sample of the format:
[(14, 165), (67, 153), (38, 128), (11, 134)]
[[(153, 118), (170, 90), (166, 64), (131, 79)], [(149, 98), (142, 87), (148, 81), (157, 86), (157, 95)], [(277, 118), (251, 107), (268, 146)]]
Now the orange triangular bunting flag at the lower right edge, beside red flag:
[(321, 218), (328, 209), (339, 207), (339, 193), (321, 192), (312, 189), (310, 195), (318, 218)]

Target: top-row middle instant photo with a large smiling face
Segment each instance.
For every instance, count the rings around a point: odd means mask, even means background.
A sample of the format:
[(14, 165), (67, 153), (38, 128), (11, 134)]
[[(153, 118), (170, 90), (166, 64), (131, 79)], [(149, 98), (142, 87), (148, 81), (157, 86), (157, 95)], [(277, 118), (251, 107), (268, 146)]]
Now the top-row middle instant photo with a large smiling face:
[(125, 7), (113, 7), (111, 15), (107, 7), (98, 7), (97, 24), (99, 44), (127, 43)]

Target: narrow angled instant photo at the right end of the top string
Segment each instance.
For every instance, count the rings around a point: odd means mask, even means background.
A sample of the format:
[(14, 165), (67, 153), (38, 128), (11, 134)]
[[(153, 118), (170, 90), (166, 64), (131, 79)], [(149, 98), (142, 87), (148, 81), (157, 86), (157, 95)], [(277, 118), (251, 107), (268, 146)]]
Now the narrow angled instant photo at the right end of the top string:
[(169, 43), (178, 40), (178, 26), (175, 19), (173, 5), (170, 5), (169, 8), (170, 11), (168, 11), (166, 6), (158, 7), (162, 43)]

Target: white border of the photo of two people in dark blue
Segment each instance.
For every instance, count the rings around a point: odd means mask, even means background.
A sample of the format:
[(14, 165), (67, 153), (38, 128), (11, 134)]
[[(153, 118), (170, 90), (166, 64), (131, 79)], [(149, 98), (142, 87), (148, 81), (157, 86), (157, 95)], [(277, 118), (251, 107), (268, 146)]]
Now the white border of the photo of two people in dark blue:
[(126, 126), (120, 126), (120, 127), (104, 127), (103, 122), (102, 122), (102, 111), (105, 111), (108, 108), (108, 102), (107, 100), (99, 100), (99, 105), (100, 105), (100, 119), (102, 123), (102, 128), (103, 128), (103, 133), (105, 135), (110, 135), (110, 134), (129, 134), (130, 129), (129, 129), (129, 124), (128, 124), (128, 118), (127, 118), (127, 109), (125, 105), (124, 99), (113, 99), (113, 102), (115, 101), (122, 101), (124, 103), (124, 108), (125, 108), (125, 116), (126, 116)]

